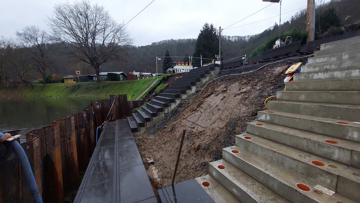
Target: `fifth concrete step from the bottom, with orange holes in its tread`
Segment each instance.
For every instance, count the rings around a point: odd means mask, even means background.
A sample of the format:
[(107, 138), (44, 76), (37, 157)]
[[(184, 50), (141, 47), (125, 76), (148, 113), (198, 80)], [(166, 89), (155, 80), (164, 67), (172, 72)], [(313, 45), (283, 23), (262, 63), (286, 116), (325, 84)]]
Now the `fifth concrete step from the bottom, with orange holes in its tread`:
[(260, 121), (248, 123), (246, 132), (360, 169), (360, 144), (357, 142)]

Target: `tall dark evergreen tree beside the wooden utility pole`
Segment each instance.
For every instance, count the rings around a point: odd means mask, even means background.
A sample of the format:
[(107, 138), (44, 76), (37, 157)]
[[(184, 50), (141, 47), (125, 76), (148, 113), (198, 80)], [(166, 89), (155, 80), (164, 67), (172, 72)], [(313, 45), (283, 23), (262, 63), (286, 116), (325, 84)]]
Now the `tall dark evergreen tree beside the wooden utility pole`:
[(194, 57), (214, 58), (219, 54), (219, 35), (214, 25), (205, 23), (195, 45)]

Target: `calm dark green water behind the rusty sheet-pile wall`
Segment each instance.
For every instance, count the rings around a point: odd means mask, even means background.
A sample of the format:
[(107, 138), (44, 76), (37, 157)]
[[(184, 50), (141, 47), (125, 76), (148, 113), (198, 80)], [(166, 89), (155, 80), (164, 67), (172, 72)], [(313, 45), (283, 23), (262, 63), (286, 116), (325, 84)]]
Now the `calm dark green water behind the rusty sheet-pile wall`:
[[(0, 98), (0, 132), (21, 130), (25, 134), (32, 129), (50, 125), (57, 119), (79, 113), (94, 100), (94, 97), (19, 97)], [(23, 141), (23, 139), (20, 139)]]

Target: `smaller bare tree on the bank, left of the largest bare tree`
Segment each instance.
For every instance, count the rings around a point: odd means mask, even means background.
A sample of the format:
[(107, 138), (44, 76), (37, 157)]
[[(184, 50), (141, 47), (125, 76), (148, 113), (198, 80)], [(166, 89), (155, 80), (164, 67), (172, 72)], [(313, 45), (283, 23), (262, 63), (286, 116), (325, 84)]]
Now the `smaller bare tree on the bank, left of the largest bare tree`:
[(41, 73), (42, 80), (46, 84), (46, 71), (52, 63), (48, 57), (49, 35), (37, 26), (27, 26), (22, 32), (16, 32), (16, 35), (22, 47), (26, 48), (30, 57), (35, 61), (36, 70)]

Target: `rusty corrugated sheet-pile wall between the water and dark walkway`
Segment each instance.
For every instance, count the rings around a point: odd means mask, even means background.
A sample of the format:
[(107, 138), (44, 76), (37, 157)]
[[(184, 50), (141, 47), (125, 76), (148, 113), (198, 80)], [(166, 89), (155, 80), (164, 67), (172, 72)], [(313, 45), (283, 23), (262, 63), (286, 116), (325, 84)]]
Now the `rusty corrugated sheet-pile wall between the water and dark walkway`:
[[(80, 175), (85, 172), (95, 148), (96, 127), (105, 121), (113, 102), (113, 120), (131, 116), (132, 110), (144, 103), (127, 101), (126, 94), (111, 95), (108, 100), (92, 101), (85, 111), (25, 134), (26, 142), (21, 146), (44, 202), (64, 202), (64, 198), (77, 191)], [(20, 131), (9, 133), (15, 135)], [(0, 144), (0, 202), (32, 202), (18, 158), (9, 149), (6, 142)]]

